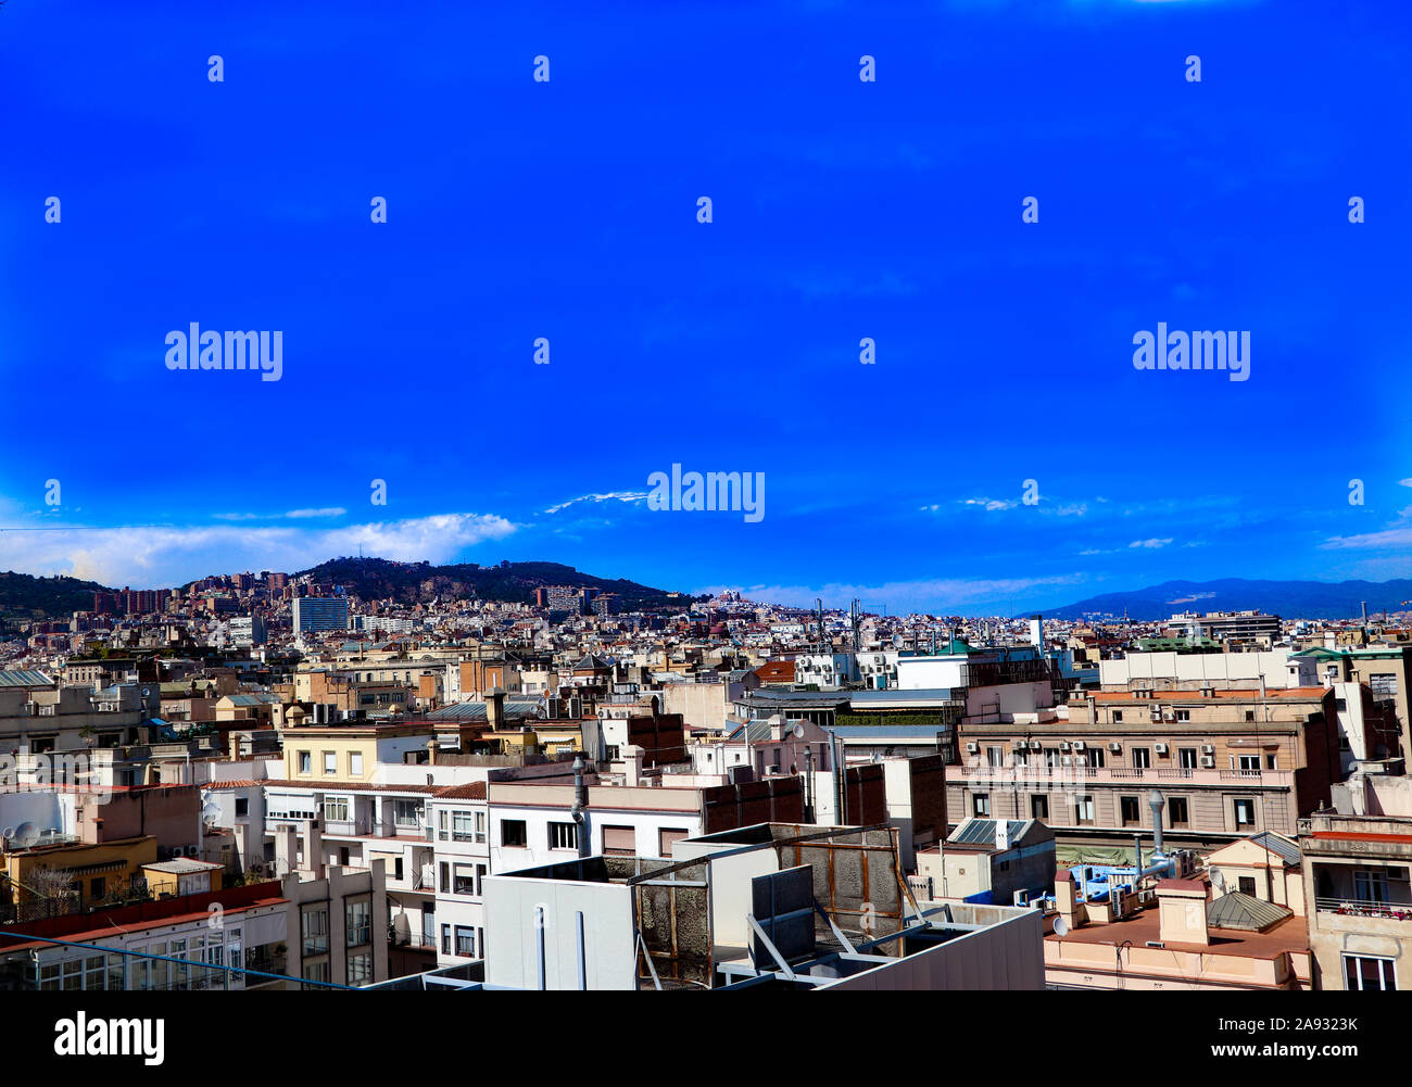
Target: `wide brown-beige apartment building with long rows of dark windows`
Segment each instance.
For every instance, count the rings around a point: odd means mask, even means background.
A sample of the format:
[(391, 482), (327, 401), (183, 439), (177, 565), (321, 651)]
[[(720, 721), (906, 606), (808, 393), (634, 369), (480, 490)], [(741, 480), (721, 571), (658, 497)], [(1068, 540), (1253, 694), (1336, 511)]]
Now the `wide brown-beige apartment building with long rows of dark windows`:
[(1127, 844), (1152, 833), (1156, 791), (1178, 844), (1293, 834), (1341, 778), (1333, 717), (1324, 687), (1089, 692), (1052, 720), (969, 726), (947, 812)]

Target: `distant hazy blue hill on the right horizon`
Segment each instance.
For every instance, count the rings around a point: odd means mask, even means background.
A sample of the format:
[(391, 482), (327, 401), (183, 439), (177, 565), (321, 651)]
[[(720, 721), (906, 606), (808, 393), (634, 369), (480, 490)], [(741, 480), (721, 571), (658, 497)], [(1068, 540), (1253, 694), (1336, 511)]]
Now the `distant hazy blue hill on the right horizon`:
[(1368, 614), (1401, 611), (1412, 600), (1412, 580), (1391, 582), (1261, 582), (1224, 577), (1216, 582), (1163, 582), (1125, 593), (1103, 593), (1045, 611), (1053, 618), (1107, 613), (1128, 618), (1168, 618), (1178, 611), (1244, 611), (1258, 608), (1282, 618), (1357, 618), (1360, 601)]

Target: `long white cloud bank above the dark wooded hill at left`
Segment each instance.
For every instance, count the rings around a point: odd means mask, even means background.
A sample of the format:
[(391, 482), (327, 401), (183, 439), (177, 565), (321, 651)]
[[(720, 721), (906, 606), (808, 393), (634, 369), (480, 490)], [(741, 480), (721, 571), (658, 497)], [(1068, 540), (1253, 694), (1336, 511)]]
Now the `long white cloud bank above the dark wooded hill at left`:
[[(339, 555), (448, 562), (466, 548), (504, 539), (517, 525), (493, 514), (436, 514), (337, 528), (203, 525), (55, 528), (4, 534), (6, 565), (31, 575), (69, 575), (141, 589), (212, 573), (294, 572)], [(58, 558), (64, 556), (64, 558)]]

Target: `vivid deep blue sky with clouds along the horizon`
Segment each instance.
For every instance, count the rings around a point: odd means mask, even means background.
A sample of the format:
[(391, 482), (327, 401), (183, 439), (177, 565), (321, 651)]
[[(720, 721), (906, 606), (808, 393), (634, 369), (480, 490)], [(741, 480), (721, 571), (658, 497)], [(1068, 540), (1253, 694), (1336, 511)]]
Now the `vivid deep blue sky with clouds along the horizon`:
[[(1412, 576), (1398, 6), (198, 7), (0, 10), (0, 569)], [(281, 380), (167, 370), (191, 322), (281, 330)], [(1135, 370), (1158, 322), (1248, 330), (1250, 380)], [(764, 520), (648, 510), (674, 463)]]

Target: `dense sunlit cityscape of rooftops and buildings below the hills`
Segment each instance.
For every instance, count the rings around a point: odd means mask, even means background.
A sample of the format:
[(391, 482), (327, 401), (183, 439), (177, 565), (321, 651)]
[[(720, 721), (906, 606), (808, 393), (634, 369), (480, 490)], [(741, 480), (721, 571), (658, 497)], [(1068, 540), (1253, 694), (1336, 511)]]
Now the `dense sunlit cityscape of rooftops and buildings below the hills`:
[(0, 985), (1406, 970), (1412, 615), (524, 594), (409, 604), (264, 570), (11, 621)]

